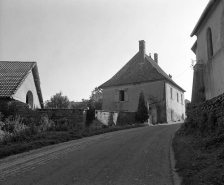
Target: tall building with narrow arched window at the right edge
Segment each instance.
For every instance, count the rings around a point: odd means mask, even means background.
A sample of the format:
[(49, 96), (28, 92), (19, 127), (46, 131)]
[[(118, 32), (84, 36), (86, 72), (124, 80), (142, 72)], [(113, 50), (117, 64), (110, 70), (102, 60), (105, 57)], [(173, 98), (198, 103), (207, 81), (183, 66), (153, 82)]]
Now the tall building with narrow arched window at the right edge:
[(224, 0), (210, 0), (191, 37), (196, 54), (192, 103), (204, 102), (224, 93)]

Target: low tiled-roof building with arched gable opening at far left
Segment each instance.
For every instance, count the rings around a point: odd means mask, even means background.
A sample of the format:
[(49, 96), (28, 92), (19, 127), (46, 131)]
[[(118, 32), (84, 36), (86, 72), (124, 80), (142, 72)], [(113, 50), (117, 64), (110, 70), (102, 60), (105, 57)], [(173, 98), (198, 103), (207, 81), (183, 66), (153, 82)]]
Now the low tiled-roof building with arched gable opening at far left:
[(36, 62), (0, 61), (0, 104), (13, 100), (44, 107)]

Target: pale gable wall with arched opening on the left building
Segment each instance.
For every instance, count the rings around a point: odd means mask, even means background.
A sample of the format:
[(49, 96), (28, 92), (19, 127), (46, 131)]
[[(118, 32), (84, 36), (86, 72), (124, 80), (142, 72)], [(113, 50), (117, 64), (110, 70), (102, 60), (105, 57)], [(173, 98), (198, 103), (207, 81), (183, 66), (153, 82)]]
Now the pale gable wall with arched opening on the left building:
[(28, 76), (23, 81), (20, 88), (16, 91), (16, 93), (12, 97), (16, 100), (26, 103), (26, 94), (28, 91), (31, 91), (33, 93), (33, 108), (40, 108), (40, 102), (37, 95), (37, 90), (34, 83), (32, 71), (29, 72)]

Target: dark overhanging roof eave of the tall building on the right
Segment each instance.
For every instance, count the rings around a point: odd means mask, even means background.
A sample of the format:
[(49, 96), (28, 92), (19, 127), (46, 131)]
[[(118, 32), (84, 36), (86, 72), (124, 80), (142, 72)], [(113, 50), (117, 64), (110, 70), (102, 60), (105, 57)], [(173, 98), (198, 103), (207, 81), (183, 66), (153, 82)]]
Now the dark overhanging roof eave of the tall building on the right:
[(201, 17), (199, 18), (196, 26), (194, 27), (194, 30), (191, 33), (191, 37), (193, 37), (194, 35), (197, 34), (197, 31), (199, 30), (199, 28), (201, 27), (201, 25), (203, 24), (205, 18), (207, 16), (209, 16), (209, 13), (211, 12), (211, 10), (218, 4), (218, 2), (220, 2), (220, 0), (210, 0), (209, 3), (207, 4), (207, 6), (205, 7), (203, 13), (201, 14)]

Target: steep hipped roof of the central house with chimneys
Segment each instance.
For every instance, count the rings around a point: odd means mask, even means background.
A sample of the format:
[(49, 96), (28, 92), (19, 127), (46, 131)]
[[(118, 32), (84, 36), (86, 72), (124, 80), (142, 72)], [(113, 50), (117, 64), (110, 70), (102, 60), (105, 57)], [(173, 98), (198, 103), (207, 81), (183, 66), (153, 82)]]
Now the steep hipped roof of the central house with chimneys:
[(151, 57), (145, 55), (143, 62), (138, 52), (110, 80), (106, 81), (99, 87), (104, 88), (159, 80), (168, 81), (179, 88), (181, 91), (185, 92), (160, 68), (160, 66)]

